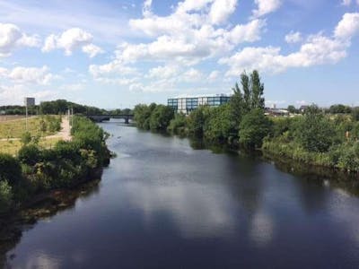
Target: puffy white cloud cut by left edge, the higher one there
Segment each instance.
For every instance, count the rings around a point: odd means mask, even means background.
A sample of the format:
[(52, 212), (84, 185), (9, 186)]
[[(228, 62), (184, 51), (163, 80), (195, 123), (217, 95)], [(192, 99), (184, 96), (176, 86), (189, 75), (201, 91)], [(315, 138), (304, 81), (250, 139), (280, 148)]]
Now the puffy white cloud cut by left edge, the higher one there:
[(14, 24), (0, 23), (0, 57), (11, 56), (19, 47), (39, 47), (39, 37), (26, 35)]

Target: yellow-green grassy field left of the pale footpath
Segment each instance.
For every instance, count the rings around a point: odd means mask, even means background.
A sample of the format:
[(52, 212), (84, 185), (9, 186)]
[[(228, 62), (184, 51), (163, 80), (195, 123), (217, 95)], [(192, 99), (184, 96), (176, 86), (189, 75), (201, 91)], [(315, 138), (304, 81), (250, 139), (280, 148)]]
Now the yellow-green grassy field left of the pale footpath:
[[(41, 117), (28, 118), (28, 131), (31, 133), (31, 136), (35, 136), (35, 135), (46, 136), (46, 135), (55, 134), (54, 132), (51, 133), (49, 131), (46, 131), (45, 133), (40, 132), (39, 131), (40, 120)], [(0, 122), (0, 139), (20, 138), (24, 132), (26, 132), (25, 118)]]

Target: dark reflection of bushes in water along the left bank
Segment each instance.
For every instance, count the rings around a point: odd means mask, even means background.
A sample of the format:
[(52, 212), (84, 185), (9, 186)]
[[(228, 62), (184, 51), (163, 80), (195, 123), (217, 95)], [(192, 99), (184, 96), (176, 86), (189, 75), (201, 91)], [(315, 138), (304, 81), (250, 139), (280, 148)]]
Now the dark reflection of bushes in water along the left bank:
[(22, 231), (31, 230), (41, 219), (74, 209), (78, 198), (89, 199), (99, 192), (99, 182), (100, 180), (92, 180), (72, 190), (54, 192), (41, 202), (32, 204), (30, 208), (0, 220), (0, 268), (4, 268), (13, 259), (12, 254), (7, 256), (6, 253), (20, 243)]

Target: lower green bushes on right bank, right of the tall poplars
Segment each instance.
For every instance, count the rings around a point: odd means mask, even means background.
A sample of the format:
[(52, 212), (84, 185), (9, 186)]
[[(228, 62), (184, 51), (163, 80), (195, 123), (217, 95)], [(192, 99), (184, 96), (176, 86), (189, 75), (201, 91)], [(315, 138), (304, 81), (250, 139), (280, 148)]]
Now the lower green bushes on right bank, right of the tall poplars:
[(264, 152), (308, 164), (359, 172), (359, 118), (326, 115), (312, 105), (303, 117), (277, 117)]

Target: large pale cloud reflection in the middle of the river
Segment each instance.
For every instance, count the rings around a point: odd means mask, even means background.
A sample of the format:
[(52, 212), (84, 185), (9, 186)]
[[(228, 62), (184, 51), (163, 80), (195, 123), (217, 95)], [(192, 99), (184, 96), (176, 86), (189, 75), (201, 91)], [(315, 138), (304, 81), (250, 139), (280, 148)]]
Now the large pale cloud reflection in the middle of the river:
[(229, 198), (221, 187), (203, 187), (193, 182), (151, 185), (128, 182), (124, 190), (133, 206), (151, 225), (156, 214), (171, 214), (186, 238), (223, 237), (235, 229)]

